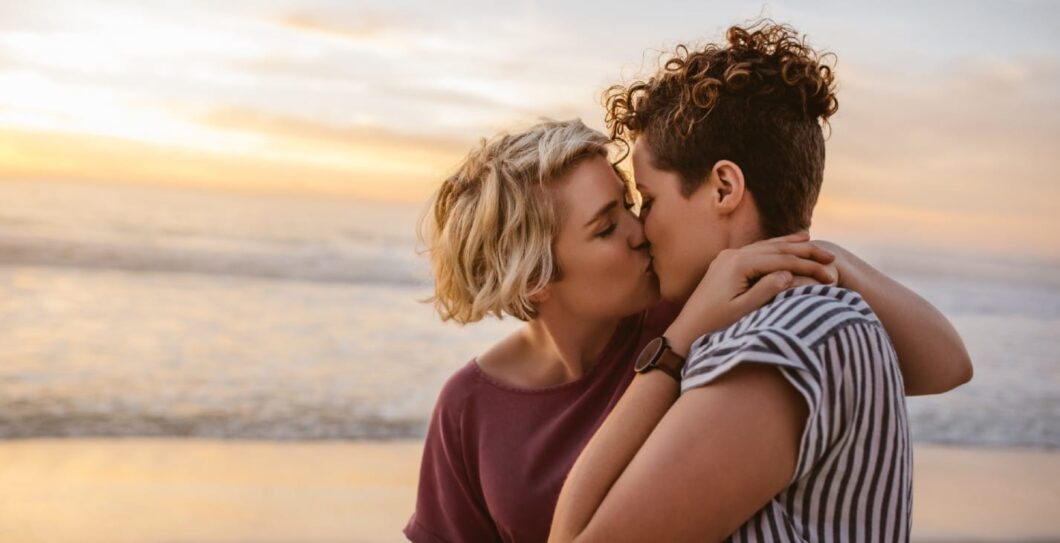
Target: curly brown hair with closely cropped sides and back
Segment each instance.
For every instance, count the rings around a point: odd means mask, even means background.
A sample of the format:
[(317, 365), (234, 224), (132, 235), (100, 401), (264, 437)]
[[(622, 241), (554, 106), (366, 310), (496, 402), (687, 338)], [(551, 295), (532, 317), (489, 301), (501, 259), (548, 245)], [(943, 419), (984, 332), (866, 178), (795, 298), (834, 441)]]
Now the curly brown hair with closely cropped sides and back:
[[(605, 93), (614, 140), (647, 136), (655, 167), (687, 197), (723, 159), (740, 165), (766, 237), (809, 228), (825, 170), (824, 126), (838, 109), (831, 53), (772, 20), (731, 27), (726, 45), (672, 56), (647, 81)], [(834, 64), (834, 63), (833, 63)]]

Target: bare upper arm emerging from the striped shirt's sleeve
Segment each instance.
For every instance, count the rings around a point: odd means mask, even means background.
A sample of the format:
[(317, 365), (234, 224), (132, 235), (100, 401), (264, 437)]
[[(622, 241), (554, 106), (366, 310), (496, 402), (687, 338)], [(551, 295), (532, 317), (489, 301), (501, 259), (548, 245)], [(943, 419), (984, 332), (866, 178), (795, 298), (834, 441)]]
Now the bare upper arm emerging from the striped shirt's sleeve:
[[(589, 518), (576, 523), (567, 508), (585, 496), (570, 489), (594, 477), (583, 454), (560, 496), (549, 541), (721, 541), (746, 522), (791, 480), (807, 417), (806, 403), (779, 371), (756, 366), (682, 396)], [(593, 460), (612, 461), (598, 453)]]

